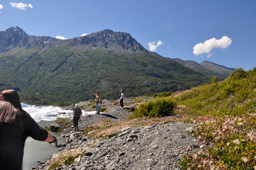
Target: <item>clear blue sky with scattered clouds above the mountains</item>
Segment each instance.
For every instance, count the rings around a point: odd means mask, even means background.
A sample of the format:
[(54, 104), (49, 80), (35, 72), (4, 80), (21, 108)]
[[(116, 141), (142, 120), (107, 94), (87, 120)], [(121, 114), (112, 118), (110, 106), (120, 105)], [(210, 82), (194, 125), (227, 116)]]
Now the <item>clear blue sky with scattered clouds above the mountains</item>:
[(256, 66), (256, 0), (5, 0), (0, 31), (12, 26), (68, 39), (111, 29), (163, 57)]

